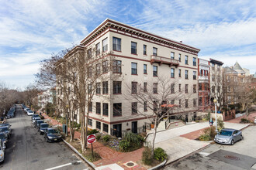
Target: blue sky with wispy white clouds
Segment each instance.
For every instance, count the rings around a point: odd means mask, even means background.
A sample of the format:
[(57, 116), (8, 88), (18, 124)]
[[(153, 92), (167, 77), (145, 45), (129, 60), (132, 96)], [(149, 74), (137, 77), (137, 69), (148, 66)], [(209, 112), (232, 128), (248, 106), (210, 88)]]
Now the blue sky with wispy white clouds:
[(251, 0), (0, 0), (0, 82), (24, 89), (42, 59), (78, 45), (107, 18), (255, 73), (255, 8)]

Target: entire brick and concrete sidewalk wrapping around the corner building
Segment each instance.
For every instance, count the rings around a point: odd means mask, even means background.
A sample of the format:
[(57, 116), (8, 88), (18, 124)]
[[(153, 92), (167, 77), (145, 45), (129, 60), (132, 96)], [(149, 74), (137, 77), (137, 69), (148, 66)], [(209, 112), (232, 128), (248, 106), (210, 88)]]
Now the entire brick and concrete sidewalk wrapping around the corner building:
[[(51, 124), (59, 124), (56, 120), (48, 117), (43, 114), (43, 116), (51, 121)], [(255, 113), (256, 116), (256, 113)], [(254, 114), (251, 115), (254, 117)], [(240, 118), (240, 117), (238, 117)], [(233, 120), (231, 120), (233, 121)], [(234, 121), (237, 122), (238, 120)], [(247, 127), (249, 124), (237, 124), (231, 123), (230, 121), (224, 122), (225, 128), (236, 128), (242, 129)], [(198, 151), (201, 148), (206, 147), (210, 144), (210, 141), (196, 141), (196, 138), (199, 138), (199, 135), (203, 133), (205, 128), (209, 127), (209, 122), (189, 124), (178, 128), (169, 129), (167, 131), (157, 132), (157, 138), (155, 140), (155, 147), (163, 148), (168, 154), (168, 162), (174, 162), (185, 155), (189, 155), (195, 151)], [(152, 134), (149, 134), (147, 141), (153, 137)], [(80, 138), (80, 133), (75, 132), (75, 138)], [(88, 145), (90, 148), (91, 145)], [(118, 152), (113, 151), (111, 148), (108, 148), (102, 145), (99, 142), (93, 143), (93, 149), (102, 159), (93, 162), (93, 164), (99, 169), (147, 169), (141, 165), (141, 158), (144, 148), (140, 148), (137, 151), (131, 152)], [(132, 168), (127, 167), (126, 162), (133, 162), (135, 166)]]

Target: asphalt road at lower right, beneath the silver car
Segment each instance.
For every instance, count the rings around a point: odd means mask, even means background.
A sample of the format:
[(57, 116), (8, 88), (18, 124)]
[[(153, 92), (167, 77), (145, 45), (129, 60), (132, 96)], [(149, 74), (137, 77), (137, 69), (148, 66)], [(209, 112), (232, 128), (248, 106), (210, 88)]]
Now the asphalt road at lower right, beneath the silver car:
[(194, 155), (184, 158), (164, 169), (225, 169), (243, 170), (256, 169), (256, 126), (245, 128), (242, 133), (244, 140), (234, 145), (213, 144)]

